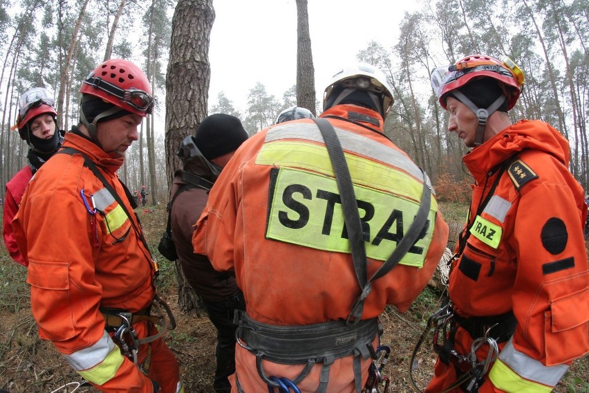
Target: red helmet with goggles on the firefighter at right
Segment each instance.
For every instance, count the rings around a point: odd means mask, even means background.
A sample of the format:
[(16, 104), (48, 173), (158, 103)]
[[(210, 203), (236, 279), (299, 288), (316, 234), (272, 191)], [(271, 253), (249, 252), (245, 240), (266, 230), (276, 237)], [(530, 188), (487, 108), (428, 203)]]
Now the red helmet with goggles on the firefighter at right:
[(503, 86), (507, 107), (512, 109), (523, 86), (523, 72), (506, 57), (503, 62), (485, 55), (470, 55), (451, 66), (438, 67), (431, 73), (431, 86), (442, 108), (446, 108), (446, 95), (480, 77), (492, 77)]

